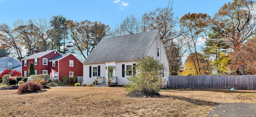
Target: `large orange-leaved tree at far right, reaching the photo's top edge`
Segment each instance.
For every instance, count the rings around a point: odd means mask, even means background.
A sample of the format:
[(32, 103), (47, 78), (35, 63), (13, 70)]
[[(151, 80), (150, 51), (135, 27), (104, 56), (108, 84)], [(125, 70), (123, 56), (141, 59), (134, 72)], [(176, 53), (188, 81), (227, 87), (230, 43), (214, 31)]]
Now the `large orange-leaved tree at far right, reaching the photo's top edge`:
[(256, 2), (254, 0), (233, 0), (225, 3), (214, 16), (214, 24), (219, 32), (224, 32), (226, 44), (230, 46), (230, 69), (243, 69), (246, 63), (240, 63), (237, 58), (244, 58), (240, 51), (244, 42), (256, 34)]

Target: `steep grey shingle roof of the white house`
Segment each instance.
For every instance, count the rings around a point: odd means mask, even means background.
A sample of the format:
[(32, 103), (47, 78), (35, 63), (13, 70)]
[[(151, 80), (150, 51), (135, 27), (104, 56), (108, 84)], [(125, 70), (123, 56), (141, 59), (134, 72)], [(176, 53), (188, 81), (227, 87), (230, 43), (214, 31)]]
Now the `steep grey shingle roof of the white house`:
[(136, 60), (146, 55), (158, 30), (102, 39), (83, 63)]

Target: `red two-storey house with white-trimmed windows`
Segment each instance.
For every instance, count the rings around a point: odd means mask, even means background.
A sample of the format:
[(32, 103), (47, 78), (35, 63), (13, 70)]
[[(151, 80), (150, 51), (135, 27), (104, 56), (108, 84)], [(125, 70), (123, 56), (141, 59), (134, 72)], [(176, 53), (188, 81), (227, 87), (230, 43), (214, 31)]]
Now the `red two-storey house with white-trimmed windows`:
[(62, 77), (82, 76), (83, 64), (73, 54), (60, 54), (56, 50), (45, 52), (35, 52), (31, 56), (22, 59), (22, 76), (28, 76), (28, 68), (30, 63), (34, 63), (35, 74), (49, 74), (56, 71), (55, 79), (62, 81)]

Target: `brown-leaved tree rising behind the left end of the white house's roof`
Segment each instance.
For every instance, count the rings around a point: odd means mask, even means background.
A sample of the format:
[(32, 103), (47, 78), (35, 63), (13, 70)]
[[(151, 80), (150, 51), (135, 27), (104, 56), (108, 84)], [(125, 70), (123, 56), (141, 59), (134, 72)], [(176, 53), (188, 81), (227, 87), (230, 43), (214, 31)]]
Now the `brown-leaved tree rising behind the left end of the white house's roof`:
[(110, 31), (108, 25), (88, 20), (80, 23), (68, 20), (66, 25), (75, 48), (77, 48), (84, 59), (92, 52), (102, 38), (108, 36), (107, 34)]

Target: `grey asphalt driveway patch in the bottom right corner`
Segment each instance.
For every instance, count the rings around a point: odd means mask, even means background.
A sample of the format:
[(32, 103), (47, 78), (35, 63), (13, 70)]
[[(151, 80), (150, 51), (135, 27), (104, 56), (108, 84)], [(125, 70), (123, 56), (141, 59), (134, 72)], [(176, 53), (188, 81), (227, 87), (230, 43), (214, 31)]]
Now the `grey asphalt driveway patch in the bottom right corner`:
[(221, 103), (205, 117), (256, 117), (256, 104)]

